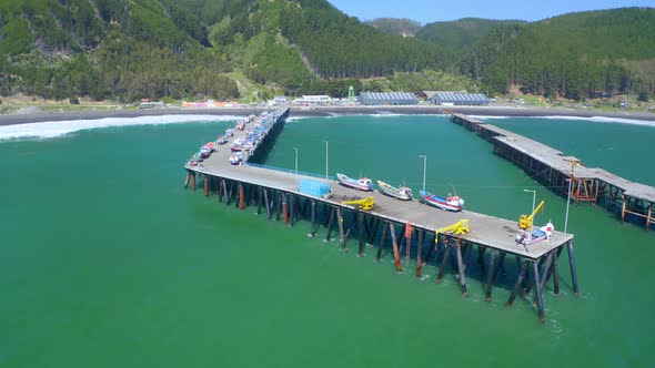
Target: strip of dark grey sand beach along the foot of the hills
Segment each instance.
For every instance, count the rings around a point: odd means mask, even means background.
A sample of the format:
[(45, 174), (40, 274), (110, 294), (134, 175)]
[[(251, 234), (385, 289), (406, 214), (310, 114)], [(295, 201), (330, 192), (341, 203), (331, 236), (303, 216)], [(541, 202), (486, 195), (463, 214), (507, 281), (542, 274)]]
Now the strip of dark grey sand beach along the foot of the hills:
[[(78, 112), (53, 112), (34, 114), (0, 115), (0, 125), (26, 123), (93, 120), (103, 117), (139, 117), (159, 115), (240, 115), (259, 114), (261, 108), (224, 108), (224, 109), (180, 109), (165, 108), (152, 110), (97, 110)], [(463, 113), (487, 116), (606, 116), (616, 119), (634, 119), (655, 121), (655, 113), (645, 112), (605, 112), (597, 110), (546, 109), (546, 108), (512, 108), (512, 106), (321, 106), (292, 108), (292, 116), (335, 116), (335, 115), (371, 115), (371, 114), (444, 114)]]

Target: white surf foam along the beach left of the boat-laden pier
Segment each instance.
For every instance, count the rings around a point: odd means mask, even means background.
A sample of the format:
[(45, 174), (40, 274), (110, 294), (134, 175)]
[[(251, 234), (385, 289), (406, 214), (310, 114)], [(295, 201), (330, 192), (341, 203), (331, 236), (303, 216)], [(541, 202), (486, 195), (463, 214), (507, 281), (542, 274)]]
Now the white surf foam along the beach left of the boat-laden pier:
[(110, 126), (161, 125), (178, 124), (184, 122), (209, 123), (219, 121), (236, 121), (242, 117), (233, 115), (160, 115), (26, 123), (0, 126), (0, 140), (16, 140), (23, 137), (52, 139), (82, 130)]

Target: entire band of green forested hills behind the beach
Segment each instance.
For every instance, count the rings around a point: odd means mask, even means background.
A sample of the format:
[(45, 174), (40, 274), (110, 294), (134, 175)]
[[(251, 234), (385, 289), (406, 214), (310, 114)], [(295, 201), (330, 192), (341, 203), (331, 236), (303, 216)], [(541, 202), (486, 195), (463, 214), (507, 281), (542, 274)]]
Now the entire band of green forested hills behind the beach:
[(364, 23), (325, 0), (0, 3), (1, 95), (235, 99), (250, 96), (252, 85), (260, 98), (341, 96), (349, 85), (357, 92), (520, 88), (576, 100), (653, 93), (655, 10), (420, 27)]

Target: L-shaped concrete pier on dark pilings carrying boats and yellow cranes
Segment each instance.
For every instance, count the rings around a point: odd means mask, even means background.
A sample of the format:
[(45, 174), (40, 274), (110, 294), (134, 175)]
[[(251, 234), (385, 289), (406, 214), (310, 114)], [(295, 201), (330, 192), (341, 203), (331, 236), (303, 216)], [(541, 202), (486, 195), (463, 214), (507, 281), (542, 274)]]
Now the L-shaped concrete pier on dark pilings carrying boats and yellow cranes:
[[(324, 227), (324, 239), (333, 236), (342, 252), (350, 251), (349, 243), (356, 239), (356, 255), (367, 256), (366, 245), (373, 245), (374, 260), (380, 262), (385, 255), (393, 257), (394, 270), (413, 273), (423, 279), (423, 267), (434, 265), (436, 276), (433, 282), (440, 284), (446, 272), (455, 272), (462, 289), (462, 296), (468, 295), (467, 273), (474, 266), (480, 267), (477, 278), (482, 282), (485, 299), (492, 300), (492, 292), (497, 274), (515, 270), (515, 283), (506, 306), (512, 306), (517, 296), (530, 300), (535, 306), (540, 320), (545, 320), (544, 290), (553, 282), (553, 294), (560, 295), (558, 259), (566, 251), (571, 270), (571, 286), (578, 293), (573, 238), (571, 234), (553, 232), (548, 241), (532, 245), (516, 242), (520, 233), (516, 221), (508, 221), (471, 211), (451, 213), (413, 201), (399, 201), (382, 193), (360, 192), (339, 185), (332, 177), (294, 173), (291, 170), (275, 170), (255, 163), (265, 156), (278, 132), (282, 129), (289, 109), (274, 113), (275, 123), (262, 143), (258, 145), (241, 165), (231, 165), (229, 145), (220, 146), (209, 159), (198, 165), (185, 165), (185, 186), (196, 188), (196, 177), (202, 178), (204, 195), (215, 202), (233, 205), (241, 209), (252, 207), (258, 214), (265, 214), (269, 221), (282, 221), (293, 226), (300, 219), (311, 222), (310, 235), (319, 236), (319, 227)], [(235, 137), (245, 136), (236, 132)], [(331, 193), (314, 196), (299, 191), (303, 178), (329, 184)], [(375, 206), (372, 211), (343, 204), (344, 200), (373, 196)], [(470, 232), (437, 233), (461, 219), (467, 219)], [(514, 257), (515, 265), (507, 258)], [(405, 262), (403, 262), (403, 258)], [(415, 266), (409, 269), (409, 260)], [(404, 266), (403, 266), (404, 264)], [(477, 274), (477, 273), (476, 273)], [(532, 298), (531, 296), (532, 292)]]

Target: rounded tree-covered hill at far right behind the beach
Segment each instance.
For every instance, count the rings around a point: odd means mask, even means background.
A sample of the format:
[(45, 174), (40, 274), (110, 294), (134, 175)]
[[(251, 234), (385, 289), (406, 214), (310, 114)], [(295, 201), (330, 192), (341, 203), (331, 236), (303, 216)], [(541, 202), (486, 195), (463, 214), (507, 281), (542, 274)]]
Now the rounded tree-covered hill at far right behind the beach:
[(594, 98), (655, 90), (655, 9), (571, 13), (503, 27), (462, 64), (493, 90)]

